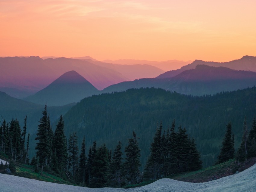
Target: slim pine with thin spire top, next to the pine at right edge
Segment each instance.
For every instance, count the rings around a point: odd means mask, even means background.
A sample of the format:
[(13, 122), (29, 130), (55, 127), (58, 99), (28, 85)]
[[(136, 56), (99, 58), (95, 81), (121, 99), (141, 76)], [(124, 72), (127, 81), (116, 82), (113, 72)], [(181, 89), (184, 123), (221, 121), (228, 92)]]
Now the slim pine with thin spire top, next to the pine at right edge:
[(241, 162), (247, 159), (247, 134), (248, 134), (248, 131), (247, 131), (246, 116), (245, 116), (242, 142), (236, 153), (236, 159), (238, 159)]

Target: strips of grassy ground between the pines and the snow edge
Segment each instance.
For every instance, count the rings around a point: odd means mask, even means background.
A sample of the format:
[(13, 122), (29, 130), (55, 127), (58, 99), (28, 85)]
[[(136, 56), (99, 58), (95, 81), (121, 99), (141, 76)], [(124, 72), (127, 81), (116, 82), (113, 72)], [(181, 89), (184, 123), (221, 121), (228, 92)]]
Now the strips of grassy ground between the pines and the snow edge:
[[(7, 160), (4, 156), (0, 155), (0, 159)], [(235, 159), (229, 159), (229, 161), (226, 161), (224, 163), (220, 163), (218, 165), (214, 165), (208, 168), (200, 169), (198, 171), (194, 172), (185, 172), (185, 173), (179, 173), (176, 175), (170, 175), (168, 178), (175, 179), (178, 181), (186, 181), (186, 182), (207, 182), (215, 179), (219, 179), (222, 177), (226, 177), (228, 175), (233, 175), (236, 173), (236, 171), (243, 171), (245, 169), (248, 169), (250, 166), (254, 165), (256, 163), (256, 157), (253, 157), (251, 159), (248, 159), (247, 162), (244, 163), (237, 163)], [(24, 165), (20, 163), (15, 163), (16, 165), (16, 172), (14, 172), (13, 175), (19, 176), (19, 177), (25, 177), (30, 179), (36, 179), (39, 181), (47, 181), (52, 183), (59, 183), (59, 184), (68, 184), (68, 185), (75, 185), (69, 181), (65, 181), (56, 175), (43, 172), (41, 175), (40, 173), (34, 172), (34, 167), (30, 165)], [(141, 187), (144, 185), (148, 185), (150, 183), (155, 182), (156, 180), (150, 180), (150, 181), (143, 181), (140, 184), (136, 185), (126, 185), (122, 188), (134, 188), (134, 187)]]

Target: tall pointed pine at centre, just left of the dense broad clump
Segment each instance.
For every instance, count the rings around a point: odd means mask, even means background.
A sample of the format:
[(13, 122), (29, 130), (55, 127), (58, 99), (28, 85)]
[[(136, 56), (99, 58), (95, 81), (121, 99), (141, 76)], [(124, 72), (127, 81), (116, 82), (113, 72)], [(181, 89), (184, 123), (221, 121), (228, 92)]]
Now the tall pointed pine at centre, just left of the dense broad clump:
[(130, 184), (137, 184), (142, 181), (142, 173), (139, 170), (140, 163), (140, 149), (138, 146), (137, 136), (133, 132), (133, 138), (128, 140), (128, 146), (125, 147), (125, 162), (124, 172), (127, 181)]

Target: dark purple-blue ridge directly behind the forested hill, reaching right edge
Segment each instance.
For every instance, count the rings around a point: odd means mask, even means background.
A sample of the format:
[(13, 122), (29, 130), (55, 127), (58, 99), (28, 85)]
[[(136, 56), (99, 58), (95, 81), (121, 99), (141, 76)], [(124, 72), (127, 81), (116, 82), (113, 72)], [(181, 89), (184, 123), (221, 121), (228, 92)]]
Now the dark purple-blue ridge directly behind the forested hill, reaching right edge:
[(198, 65), (172, 78), (139, 79), (121, 82), (105, 88), (102, 92), (125, 91), (129, 88), (155, 87), (182, 94), (204, 95), (220, 91), (234, 91), (256, 85), (256, 73), (236, 71), (226, 67)]

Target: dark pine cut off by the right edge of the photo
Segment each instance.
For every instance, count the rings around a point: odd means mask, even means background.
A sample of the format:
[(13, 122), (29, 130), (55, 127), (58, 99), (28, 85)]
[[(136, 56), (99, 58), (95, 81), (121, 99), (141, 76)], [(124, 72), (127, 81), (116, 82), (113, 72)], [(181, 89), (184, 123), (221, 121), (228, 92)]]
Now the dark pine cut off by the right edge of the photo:
[(248, 135), (248, 158), (256, 156), (256, 120), (252, 121), (251, 130)]

